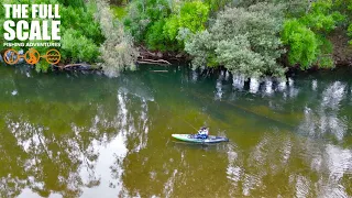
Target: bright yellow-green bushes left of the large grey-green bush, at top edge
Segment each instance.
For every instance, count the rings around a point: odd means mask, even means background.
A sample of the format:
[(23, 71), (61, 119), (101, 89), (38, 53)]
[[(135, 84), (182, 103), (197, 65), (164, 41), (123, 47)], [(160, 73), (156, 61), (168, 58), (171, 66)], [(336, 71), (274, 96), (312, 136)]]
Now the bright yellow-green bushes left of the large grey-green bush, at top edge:
[(179, 51), (187, 38), (187, 35), (178, 37), (179, 31), (188, 29), (189, 33), (196, 33), (205, 30), (208, 15), (208, 6), (199, 0), (134, 0), (124, 24), (136, 42), (146, 44), (150, 50)]

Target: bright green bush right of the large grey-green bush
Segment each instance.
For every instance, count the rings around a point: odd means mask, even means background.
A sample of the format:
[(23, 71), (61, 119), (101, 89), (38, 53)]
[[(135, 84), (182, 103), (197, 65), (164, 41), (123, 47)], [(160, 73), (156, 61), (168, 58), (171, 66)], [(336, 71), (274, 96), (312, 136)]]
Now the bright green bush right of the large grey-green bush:
[(283, 43), (289, 48), (288, 61), (301, 69), (312, 65), (332, 67), (332, 46), (326, 38), (345, 16), (333, 9), (330, 0), (312, 2), (308, 12), (298, 19), (287, 19), (282, 32)]

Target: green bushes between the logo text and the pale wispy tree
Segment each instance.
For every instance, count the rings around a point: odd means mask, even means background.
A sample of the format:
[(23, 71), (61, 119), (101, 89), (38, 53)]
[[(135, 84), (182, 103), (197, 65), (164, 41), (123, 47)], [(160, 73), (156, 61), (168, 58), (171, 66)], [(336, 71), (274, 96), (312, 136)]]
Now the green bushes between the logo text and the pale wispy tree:
[(61, 8), (61, 53), (66, 62), (97, 62), (105, 36), (99, 23), (95, 21), (95, 12), (96, 6), (92, 3), (85, 4), (84, 8)]

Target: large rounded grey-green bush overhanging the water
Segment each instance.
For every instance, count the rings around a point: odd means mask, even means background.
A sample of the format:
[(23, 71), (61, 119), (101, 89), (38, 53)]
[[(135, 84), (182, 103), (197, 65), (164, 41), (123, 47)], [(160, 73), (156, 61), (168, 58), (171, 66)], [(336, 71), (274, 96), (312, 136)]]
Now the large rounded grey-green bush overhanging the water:
[(277, 36), (282, 13), (279, 6), (266, 3), (227, 8), (208, 31), (187, 41), (185, 50), (194, 57), (195, 67), (223, 65), (248, 77), (282, 77), (285, 69), (276, 63), (283, 53)]

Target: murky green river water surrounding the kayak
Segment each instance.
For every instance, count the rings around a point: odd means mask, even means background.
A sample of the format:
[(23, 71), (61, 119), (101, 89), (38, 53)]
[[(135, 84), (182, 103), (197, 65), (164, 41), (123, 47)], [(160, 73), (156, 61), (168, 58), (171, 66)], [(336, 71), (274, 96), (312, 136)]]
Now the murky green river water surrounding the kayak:
[[(114, 79), (1, 67), (0, 197), (351, 197), (351, 75), (244, 85), (176, 66)], [(202, 124), (230, 142), (170, 138)]]

